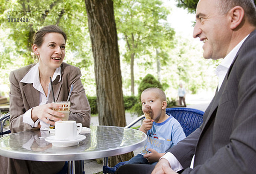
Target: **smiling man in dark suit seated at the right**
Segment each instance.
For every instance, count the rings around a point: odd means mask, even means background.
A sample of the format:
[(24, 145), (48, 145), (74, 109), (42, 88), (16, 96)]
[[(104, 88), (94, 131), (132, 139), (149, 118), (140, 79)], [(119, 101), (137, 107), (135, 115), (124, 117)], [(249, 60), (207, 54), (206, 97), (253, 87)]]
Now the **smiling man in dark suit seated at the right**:
[(256, 174), (255, 29), (253, 0), (199, 1), (193, 37), (204, 42), (204, 58), (224, 58), (204, 122), (155, 167), (124, 165), (116, 173)]

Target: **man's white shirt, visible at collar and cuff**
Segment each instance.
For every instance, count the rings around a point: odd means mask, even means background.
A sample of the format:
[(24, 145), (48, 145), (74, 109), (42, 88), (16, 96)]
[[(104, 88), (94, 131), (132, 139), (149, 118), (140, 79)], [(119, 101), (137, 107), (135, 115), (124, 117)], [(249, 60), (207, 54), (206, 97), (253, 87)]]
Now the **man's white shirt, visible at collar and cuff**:
[[(221, 88), (221, 84), (224, 81), (224, 78), (227, 74), (227, 71), (230, 67), (230, 65), (232, 64), (237, 52), (239, 51), (241, 45), (244, 43), (245, 39), (248, 37), (249, 35), (247, 35), (241, 42), (239, 42), (239, 44), (237, 44), (224, 58), (224, 60), (221, 62), (221, 64), (218, 65), (218, 67), (215, 70), (216, 75), (218, 76), (218, 90)], [(172, 170), (174, 171), (180, 171), (183, 169), (182, 165), (180, 164), (180, 162), (177, 160), (177, 158), (170, 152), (167, 152), (165, 155), (163, 155), (163, 157), (161, 158), (165, 158), (169, 161)], [(160, 159), (161, 159), (160, 158)], [(159, 159), (159, 160), (160, 160)], [(191, 161), (191, 165), (190, 168), (194, 167), (194, 159), (195, 159), (195, 155), (192, 158)]]

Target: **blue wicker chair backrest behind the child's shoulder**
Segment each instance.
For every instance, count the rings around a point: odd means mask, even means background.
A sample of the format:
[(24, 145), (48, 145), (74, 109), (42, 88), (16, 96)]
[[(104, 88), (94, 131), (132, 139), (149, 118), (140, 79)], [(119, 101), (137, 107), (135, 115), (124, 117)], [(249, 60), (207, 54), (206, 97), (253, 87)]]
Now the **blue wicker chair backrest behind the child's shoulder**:
[(201, 110), (187, 107), (173, 107), (167, 108), (166, 113), (170, 113), (180, 122), (186, 136), (199, 128), (203, 123), (204, 112)]

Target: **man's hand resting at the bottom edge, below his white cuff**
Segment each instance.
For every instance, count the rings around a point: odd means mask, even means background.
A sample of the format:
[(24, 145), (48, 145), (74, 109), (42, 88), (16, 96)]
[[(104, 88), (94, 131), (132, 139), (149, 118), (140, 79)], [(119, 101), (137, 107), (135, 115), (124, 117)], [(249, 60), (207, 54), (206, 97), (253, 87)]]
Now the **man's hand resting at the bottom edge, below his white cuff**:
[(167, 159), (160, 159), (151, 174), (177, 174), (172, 170)]

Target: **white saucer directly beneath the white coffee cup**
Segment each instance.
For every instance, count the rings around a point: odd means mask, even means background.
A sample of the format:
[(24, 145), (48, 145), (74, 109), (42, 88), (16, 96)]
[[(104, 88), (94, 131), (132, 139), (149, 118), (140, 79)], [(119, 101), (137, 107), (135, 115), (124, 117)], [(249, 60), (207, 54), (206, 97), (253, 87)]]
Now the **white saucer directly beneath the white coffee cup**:
[(74, 145), (78, 145), (80, 141), (85, 139), (84, 135), (77, 135), (76, 139), (73, 140), (58, 140), (55, 136), (48, 136), (45, 141), (52, 143), (55, 147), (70, 147)]

